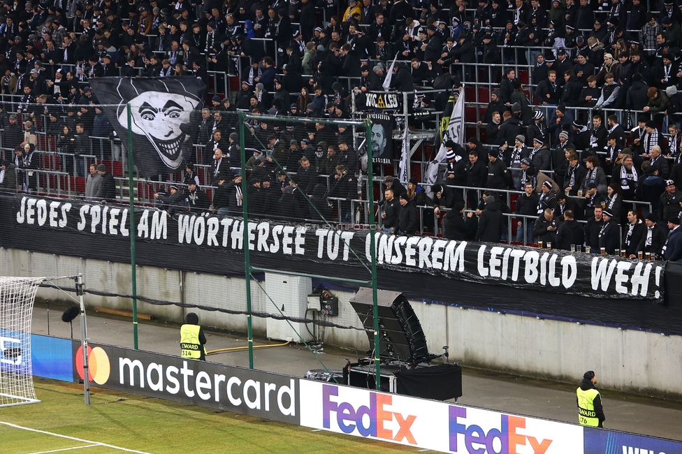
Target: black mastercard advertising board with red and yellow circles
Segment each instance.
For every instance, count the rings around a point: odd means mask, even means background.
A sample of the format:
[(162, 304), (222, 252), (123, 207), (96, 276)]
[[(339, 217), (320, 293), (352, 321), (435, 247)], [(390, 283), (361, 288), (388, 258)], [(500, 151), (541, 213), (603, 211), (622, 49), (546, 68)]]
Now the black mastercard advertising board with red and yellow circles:
[[(73, 344), (74, 379), (85, 379)], [(149, 351), (90, 344), (92, 386), (298, 424), (298, 378)]]

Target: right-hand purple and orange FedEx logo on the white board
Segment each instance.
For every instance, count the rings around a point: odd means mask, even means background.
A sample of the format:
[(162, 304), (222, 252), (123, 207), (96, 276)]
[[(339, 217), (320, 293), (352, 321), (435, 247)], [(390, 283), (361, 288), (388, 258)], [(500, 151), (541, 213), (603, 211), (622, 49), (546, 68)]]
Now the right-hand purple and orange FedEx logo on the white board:
[[(546, 453), (552, 444), (551, 439), (536, 439), (519, 433), (525, 429), (525, 418), (521, 416), (500, 415), (500, 428), (492, 428), (486, 432), (479, 425), (466, 425), (460, 422), (467, 417), (467, 409), (450, 407), (450, 451), (470, 454), (521, 454), (517, 448), (525, 448), (530, 444), (532, 451), (523, 449), (523, 453)], [(464, 446), (458, 444), (458, 437), (464, 435)], [(466, 451), (460, 451), (465, 448)]]

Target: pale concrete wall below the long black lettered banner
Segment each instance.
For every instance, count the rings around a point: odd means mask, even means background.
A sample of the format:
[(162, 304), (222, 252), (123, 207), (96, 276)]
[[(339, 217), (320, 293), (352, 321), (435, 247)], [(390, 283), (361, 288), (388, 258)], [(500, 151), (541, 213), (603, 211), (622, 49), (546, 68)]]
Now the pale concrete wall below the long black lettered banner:
[[(103, 251), (103, 254), (106, 252)], [(19, 249), (0, 249), (2, 275), (69, 275), (84, 273), (86, 288), (130, 292), (130, 267), (98, 261)], [(182, 279), (182, 281), (181, 281)], [(181, 285), (182, 283), (182, 285)], [(243, 300), (243, 280), (212, 274), (182, 272), (166, 268), (138, 267), (138, 294), (158, 300), (189, 305), (223, 298)], [(334, 291), (340, 312), (352, 311), (348, 300), (354, 294)], [(266, 295), (252, 286), (254, 306), (265, 307)], [(61, 292), (41, 288), (38, 298), (63, 300)], [(131, 309), (128, 298), (87, 294), (89, 307)], [(426, 334), (430, 351), (440, 353), (449, 345), (451, 360), (468, 367), (480, 367), (541, 379), (574, 383), (586, 370), (600, 376), (600, 386), (643, 395), (682, 398), (682, 336), (630, 330), (603, 325), (575, 323), (505, 312), (463, 309), (454, 305), (411, 301)], [(173, 305), (138, 303), (138, 311), (168, 321), (182, 321), (186, 312)], [(246, 317), (216, 311), (199, 311), (203, 325), (244, 332)], [(266, 335), (266, 319), (254, 317), (256, 335)], [(368, 340), (358, 330), (326, 328), (325, 343), (359, 351)], [(339, 365), (340, 367), (340, 365)]]

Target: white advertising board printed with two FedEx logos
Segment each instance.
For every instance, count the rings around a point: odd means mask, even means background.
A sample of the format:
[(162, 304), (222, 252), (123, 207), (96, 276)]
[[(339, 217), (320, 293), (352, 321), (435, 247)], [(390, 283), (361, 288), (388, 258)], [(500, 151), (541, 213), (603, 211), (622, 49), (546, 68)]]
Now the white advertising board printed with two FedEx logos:
[(576, 425), (307, 380), (300, 425), (442, 453), (583, 453)]

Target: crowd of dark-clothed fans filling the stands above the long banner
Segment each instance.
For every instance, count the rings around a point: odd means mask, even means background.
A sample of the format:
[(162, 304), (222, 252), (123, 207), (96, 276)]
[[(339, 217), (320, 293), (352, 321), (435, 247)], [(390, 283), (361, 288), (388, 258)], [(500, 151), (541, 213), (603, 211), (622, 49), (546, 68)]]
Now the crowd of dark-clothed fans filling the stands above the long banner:
[[(462, 81), (485, 82), (497, 89), (479, 122), (484, 142), (446, 142), (445, 169), (433, 186), (386, 177), (384, 228), (417, 233), (416, 208), (428, 207), (447, 237), (499, 241), (507, 235), (503, 214), (511, 212), (500, 191), (512, 189), (524, 191), (513, 201), (519, 219), (537, 217), (533, 228), (518, 221), (518, 241), (584, 242), (613, 254), (622, 226), (628, 255), (660, 256), (658, 243), (679, 224), (682, 203), (681, 8), (672, 0), (6, 0), (0, 126), (3, 152), (15, 153), (5, 153), (0, 185), (38, 190), (41, 134), (55, 140), (61, 165), (76, 175), (85, 174), (80, 155), (94, 146), (104, 159), (120, 159), (110, 142), (91, 143), (114, 133), (92, 78), (194, 75), (215, 86), (229, 74), (240, 88), (224, 98), (211, 94), (195, 112), (196, 159), (187, 162), (183, 184), (155, 194), (159, 203), (171, 212), (186, 204), (240, 212), (236, 112), (247, 110), (282, 117), (248, 125), (254, 213), (330, 219), (338, 209), (353, 221), (350, 200), (360, 198), (365, 169), (358, 140), (315, 119), (351, 118), (390, 77), (391, 90), (409, 94), (410, 127), (430, 127), (435, 117), (414, 114), (442, 112), (449, 89)], [(531, 87), (519, 65), (532, 68)], [(422, 87), (439, 92), (424, 96), (415, 91)], [(310, 121), (286, 124), (287, 117)], [(212, 197), (199, 187), (200, 166), (210, 166)], [(101, 172), (90, 170), (87, 196), (115, 200), (113, 177)], [(93, 186), (94, 175), (108, 175), (106, 189)], [(328, 184), (319, 175), (329, 175)], [(488, 191), (479, 198), (449, 186)], [(651, 211), (628, 211), (625, 200), (650, 203)], [(473, 211), (463, 214), (467, 207)], [(425, 218), (426, 230), (434, 228)]]

